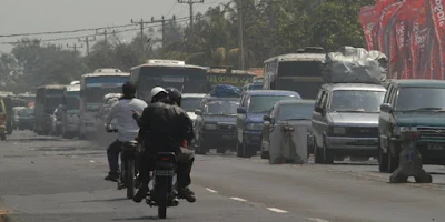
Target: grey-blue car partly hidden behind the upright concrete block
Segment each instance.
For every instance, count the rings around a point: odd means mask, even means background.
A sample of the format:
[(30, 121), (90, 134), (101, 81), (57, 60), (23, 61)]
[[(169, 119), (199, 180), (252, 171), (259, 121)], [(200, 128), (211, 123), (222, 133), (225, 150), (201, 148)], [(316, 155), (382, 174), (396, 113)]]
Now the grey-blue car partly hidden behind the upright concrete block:
[[(274, 131), (277, 133), (277, 128), (285, 129), (290, 125), (291, 129), (294, 129), (298, 125), (305, 125), (307, 128), (307, 141), (312, 141), (310, 120), (313, 117), (314, 104), (315, 100), (286, 100), (275, 103), (270, 112), (264, 117), (261, 159), (269, 159), (270, 163), (275, 162), (275, 160), (270, 159), (269, 150), (281, 149), (279, 142), (270, 140)], [(307, 144), (307, 148), (312, 148), (312, 144)], [(309, 153), (309, 150), (307, 153)]]

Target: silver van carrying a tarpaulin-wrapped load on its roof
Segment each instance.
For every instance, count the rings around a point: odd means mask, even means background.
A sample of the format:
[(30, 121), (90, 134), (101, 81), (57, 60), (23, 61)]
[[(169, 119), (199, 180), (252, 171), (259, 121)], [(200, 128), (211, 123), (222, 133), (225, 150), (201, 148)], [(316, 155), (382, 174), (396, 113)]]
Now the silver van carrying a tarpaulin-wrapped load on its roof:
[(378, 113), (385, 92), (382, 84), (322, 85), (312, 118), (315, 163), (377, 157)]

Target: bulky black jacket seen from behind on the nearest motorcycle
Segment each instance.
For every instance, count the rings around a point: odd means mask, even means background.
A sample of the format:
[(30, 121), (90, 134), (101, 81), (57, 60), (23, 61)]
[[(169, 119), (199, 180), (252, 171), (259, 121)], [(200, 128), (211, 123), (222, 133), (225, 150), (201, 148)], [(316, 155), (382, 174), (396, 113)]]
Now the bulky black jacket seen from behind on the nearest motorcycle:
[(180, 107), (155, 102), (148, 104), (138, 120), (139, 138), (151, 153), (176, 152), (184, 140), (194, 139), (192, 121)]

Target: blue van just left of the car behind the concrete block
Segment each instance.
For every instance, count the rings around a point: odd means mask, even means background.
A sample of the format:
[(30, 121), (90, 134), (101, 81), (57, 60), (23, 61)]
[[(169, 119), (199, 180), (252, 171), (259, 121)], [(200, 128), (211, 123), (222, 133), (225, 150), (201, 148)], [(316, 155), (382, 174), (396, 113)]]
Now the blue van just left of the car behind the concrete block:
[(263, 117), (281, 100), (300, 100), (294, 91), (248, 90), (237, 109), (237, 155), (250, 158), (261, 148)]

